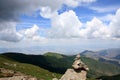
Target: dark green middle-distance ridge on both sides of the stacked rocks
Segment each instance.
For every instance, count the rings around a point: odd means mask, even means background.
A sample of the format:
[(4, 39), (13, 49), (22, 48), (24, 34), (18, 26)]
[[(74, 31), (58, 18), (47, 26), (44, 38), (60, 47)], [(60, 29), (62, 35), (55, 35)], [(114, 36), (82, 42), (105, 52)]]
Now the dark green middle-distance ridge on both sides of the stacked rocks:
[[(70, 68), (75, 56), (66, 56), (58, 53), (46, 53), (44, 55), (25, 55), (21, 53), (4, 53), (0, 56), (19, 63), (27, 63), (39, 66), (53, 73), (64, 73)], [(81, 57), (89, 66), (88, 77), (111, 76), (120, 74), (120, 67), (113, 64), (100, 62), (91, 58)]]

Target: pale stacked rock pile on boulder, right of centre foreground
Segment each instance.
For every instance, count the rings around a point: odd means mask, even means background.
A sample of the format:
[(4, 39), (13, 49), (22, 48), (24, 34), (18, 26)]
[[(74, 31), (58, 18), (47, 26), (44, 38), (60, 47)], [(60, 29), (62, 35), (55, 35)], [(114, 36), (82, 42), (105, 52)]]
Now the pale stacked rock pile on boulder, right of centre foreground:
[(72, 65), (73, 69), (67, 69), (60, 80), (86, 80), (89, 68), (81, 61), (80, 55), (77, 55), (74, 60)]

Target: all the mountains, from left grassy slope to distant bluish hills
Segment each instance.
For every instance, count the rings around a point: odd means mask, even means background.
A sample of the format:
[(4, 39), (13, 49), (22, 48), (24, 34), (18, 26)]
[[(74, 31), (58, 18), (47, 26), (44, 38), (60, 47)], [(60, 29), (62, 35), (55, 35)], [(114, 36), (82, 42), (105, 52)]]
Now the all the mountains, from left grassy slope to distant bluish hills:
[[(96, 78), (109, 80), (111, 77), (113, 80), (119, 80), (120, 65), (115, 63), (115, 61), (119, 62), (119, 52), (119, 49), (81, 52), (82, 61), (90, 68), (88, 80), (96, 80)], [(54, 52), (47, 52), (43, 55), (7, 52), (0, 54), (0, 68), (51, 80), (54, 77), (60, 78), (68, 68), (71, 68), (74, 58), (75, 55)]]

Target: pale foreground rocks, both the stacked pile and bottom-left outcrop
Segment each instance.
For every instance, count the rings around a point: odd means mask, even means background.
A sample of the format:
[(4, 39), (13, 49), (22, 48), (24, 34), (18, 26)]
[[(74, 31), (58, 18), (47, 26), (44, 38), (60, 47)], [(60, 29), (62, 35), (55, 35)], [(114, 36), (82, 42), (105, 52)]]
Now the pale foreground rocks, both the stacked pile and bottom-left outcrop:
[[(60, 79), (54, 78), (53, 80), (86, 80), (89, 68), (81, 61), (80, 55), (77, 55), (74, 60), (72, 69), (67, 69)], [(37, 78), (13, 70), (0, 68), (0, 80), (37, 80)]]

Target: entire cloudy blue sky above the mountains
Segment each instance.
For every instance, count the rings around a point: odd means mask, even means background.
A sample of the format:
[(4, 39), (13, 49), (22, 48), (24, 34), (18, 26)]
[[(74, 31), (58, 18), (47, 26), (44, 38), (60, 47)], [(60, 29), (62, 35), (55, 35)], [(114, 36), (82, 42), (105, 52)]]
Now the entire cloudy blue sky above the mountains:
[(0, 53), (120, 48), (120, 0), (0, 0)]

